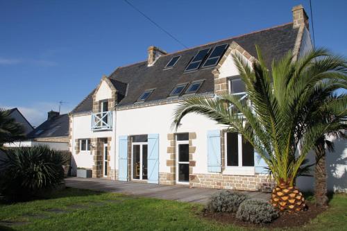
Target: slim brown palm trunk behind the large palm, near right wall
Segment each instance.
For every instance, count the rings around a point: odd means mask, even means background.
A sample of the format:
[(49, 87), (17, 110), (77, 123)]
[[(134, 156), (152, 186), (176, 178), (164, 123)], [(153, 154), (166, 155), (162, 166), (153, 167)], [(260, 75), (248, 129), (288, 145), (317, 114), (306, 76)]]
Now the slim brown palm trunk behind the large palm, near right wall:
[(314, 197), (316, 198), (316, 204), (319, 206), (328, 205), (326, 178), (325, 150), (319, 148), (316, 151), (316, 166), (314, 169)]

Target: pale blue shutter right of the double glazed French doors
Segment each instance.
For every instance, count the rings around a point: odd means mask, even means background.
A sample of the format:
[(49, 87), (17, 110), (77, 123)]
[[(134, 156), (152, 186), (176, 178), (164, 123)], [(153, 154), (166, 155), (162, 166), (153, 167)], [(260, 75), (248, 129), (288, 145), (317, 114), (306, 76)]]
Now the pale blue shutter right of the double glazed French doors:
[(148, 182), (159, 182), (159, 134), (148, 135), (149, 153), (147, 155)]

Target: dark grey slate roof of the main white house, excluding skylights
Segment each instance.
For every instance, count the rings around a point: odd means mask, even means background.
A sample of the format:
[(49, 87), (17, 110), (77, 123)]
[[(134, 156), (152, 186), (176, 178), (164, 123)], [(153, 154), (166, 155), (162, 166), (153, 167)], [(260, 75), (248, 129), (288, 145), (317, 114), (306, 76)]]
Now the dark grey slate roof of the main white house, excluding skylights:
[[(298, 29), (293, 28), (292, 23), (284, 24), (262, 31), (196, 46), (192, 49), (185, 49), (183, 51), (169, 53), (168, 55), (162, 55), (152, 67), (147, 67), (147, 61), (119, 67), (108, 78), (110, 78), (112, 84), (117, 83), (115, 81), (127, 84), (126, 95), (118, 102), (117, 106), (133, 104), (146, 89), (153, 88), (155, 88), (155, 90), (146, 102), (167, 99), (167, 96), (169, 96), (170, 92), (177, 84), (191, 83), (194, 80), (204, 80), (203, 85), (198, 92), (196, 92), (197, 94), (213, 93), (214, 76), (212, 70), (214, 67), (184, 72), (185, 67), (187, 67), (192, 57), (194, 57), (199, 50), (208, 47), (213, 48), (219, 44), (231, 44), (232, 41), (235, 41), (248, 51), (248, 53), (257, 57), (255, 44), (258, 44), (262, 50), (266, 65), (271, 67), (273, 59), (278, 60), (278, 58), (282, 57), (287, 51), (294, 49), (297, 34)], [(182, 56), (174, 68), (164, 69), (169, 60), (177, 55)], [(116, 87), (116, 89), (118, 88)], [(125, 92), (124, 85), (121, 85), (121, 91)], [(92, 93), (94, 93), (94, 91)], [(92, 93), (71, 113), (91, 111)]]

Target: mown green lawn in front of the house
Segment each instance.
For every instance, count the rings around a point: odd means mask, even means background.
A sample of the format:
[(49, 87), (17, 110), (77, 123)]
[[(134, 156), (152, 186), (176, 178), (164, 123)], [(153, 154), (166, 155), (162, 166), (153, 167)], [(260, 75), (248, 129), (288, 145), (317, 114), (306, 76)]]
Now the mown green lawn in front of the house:
[[(346, 230), (347, 195), (335, 195), (330, 205), (305, 228), (290, 230)], [(46, 200), (0, 204), (0, 222), (14, 222), (0, 230), (246, 230), (201, 219), (196, 212), (202, 208), (171, 200), (65, 189)]]

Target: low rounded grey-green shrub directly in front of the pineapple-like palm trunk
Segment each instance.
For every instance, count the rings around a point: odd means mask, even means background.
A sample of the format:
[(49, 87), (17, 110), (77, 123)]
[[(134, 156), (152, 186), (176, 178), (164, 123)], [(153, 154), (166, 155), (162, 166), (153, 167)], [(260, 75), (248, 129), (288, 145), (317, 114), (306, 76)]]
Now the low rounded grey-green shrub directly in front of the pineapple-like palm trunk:
[(265, 200), (245, 200), (239, 206), (236, 217), (251, 223), (270, 223), (278, 218), (278, 211)]

